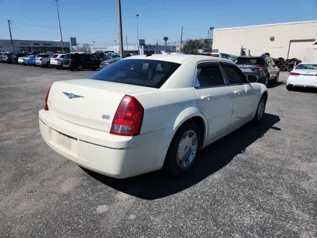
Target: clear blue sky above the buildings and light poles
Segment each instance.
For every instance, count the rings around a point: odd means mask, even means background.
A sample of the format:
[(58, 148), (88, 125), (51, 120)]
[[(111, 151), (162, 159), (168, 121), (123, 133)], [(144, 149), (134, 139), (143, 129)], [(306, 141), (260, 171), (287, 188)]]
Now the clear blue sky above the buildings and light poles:
[[(118, 40), (117, 0), (59, 0), (64, 41), (114, 44)], [(0, 39), (9, 39), (11, 20), (15, 40), (59, 40), (55, 0), (0, 0)], [(124, 43), (146, 44), (207, 38), (209, 27), (225, 28), (291, 21), (317, 20), (317, 0), (121, 0)]]

